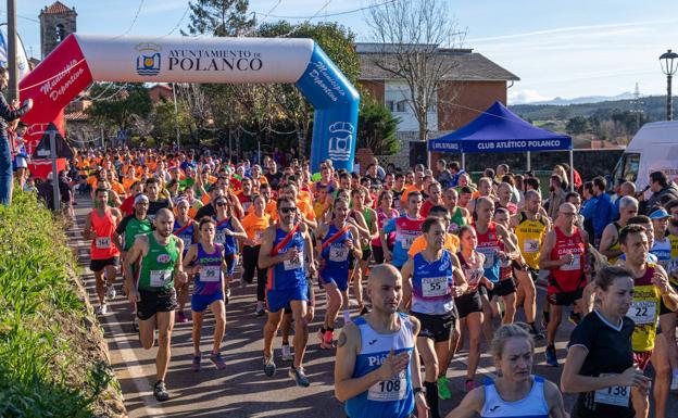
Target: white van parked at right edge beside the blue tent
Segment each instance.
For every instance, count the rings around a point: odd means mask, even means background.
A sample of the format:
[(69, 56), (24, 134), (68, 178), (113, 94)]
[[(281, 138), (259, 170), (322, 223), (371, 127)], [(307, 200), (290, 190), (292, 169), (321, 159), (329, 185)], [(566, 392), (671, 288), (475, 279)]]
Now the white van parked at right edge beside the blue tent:
[(678, 122), (644, 124), (636, 134), (613, 172), (614, 185), (633, 181), (636, 190), (643, 190), (650, 173), (664, 172), (678, 182)]

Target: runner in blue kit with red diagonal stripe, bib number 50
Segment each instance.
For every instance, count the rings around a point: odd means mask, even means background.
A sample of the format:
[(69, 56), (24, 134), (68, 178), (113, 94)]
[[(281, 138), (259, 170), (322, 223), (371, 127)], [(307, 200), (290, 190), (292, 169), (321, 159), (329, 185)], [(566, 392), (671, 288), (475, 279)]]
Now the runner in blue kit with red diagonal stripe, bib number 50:
[(334, 347), (335, 321), (339, 308), (349, 308), (349, 255), (361, 259), (363, 253), (360, 245), (360, 235), (349, 216), (349, 202), (343, 199), (335, 200), (332, 204), (331, 224), (323, 224), (318, 228), (317, 252), (321, 254), (318, 280), (321, 288), (327, 292), (327, 312), (325, 321), (318, 330), (321, 349)]

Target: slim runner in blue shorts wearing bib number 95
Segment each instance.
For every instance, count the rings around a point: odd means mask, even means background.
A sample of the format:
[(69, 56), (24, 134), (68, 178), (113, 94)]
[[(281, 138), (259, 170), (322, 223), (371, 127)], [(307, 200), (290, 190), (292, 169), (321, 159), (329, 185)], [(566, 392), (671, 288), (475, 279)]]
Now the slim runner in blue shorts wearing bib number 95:
[[(184, 258), (184, 268), (193, 275), (193, 294), (191, 311), (193, 318), (193, 362), (191, 369), (200, 370), (202, 355), (200, 353), (200, 331), (205, 309), (214, 314), (214, 346), (210, 359), (217, 369), (226, 368), (222, 358), (221, 345), (226, 329), (226, 305), (224, 297), (224, 245), (214, 242), (216, 226), (212, 218), (200, 220), (199, 241), (188, 249)], [(192, 265), (192, 267), (191, 267)]]

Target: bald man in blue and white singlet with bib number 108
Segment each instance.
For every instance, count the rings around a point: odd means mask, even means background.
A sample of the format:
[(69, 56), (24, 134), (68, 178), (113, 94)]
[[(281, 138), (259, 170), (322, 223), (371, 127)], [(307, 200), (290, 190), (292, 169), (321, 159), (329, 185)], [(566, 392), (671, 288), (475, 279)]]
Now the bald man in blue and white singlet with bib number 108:
[(338, 340), (335, 395), (350, 418), (427, 416), (415, 338), (419, 321), (399, 313), (400, 271), (375, 266), (367, 282), (372, 312), (348, 324)]

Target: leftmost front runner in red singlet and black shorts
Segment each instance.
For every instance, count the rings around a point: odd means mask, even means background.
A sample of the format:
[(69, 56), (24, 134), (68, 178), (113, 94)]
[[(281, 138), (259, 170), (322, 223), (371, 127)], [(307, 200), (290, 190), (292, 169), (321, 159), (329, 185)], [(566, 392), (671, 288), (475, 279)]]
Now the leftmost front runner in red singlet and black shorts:
[[(95, 271), (97, 282), (97, 296), (99, 296), (99, 308), (97, 314), (105, 315), (109, 305), (108, 300), (115, 297), (115, 267), (120, 263), (120, 250), (115, 244), (115, 227), (123, 218), (121, 212), (109, 206), (109, 191), (97, 189), (95, 192), (97, 208), (92, 210), (85, 218), (83, 237), (91, 240), (91, 262), (89, 268)], [(104, 278), (105, 270), (105, 278)], [(104, 295), (104, 287), (105, 295)]]

